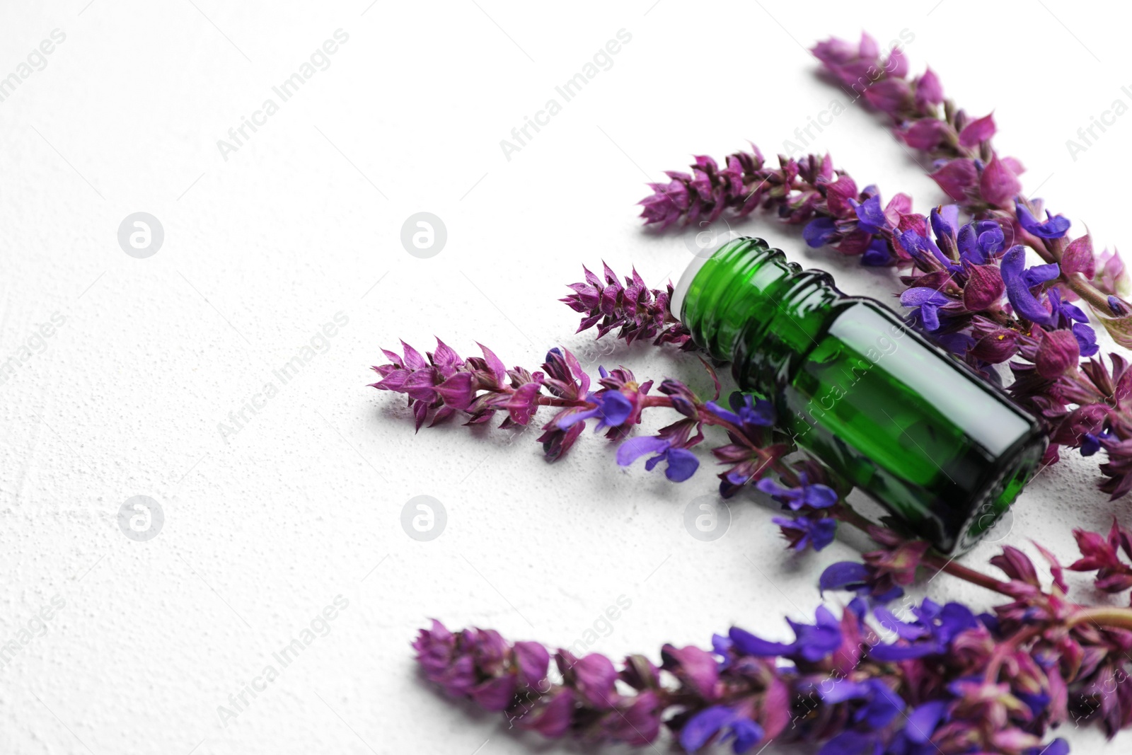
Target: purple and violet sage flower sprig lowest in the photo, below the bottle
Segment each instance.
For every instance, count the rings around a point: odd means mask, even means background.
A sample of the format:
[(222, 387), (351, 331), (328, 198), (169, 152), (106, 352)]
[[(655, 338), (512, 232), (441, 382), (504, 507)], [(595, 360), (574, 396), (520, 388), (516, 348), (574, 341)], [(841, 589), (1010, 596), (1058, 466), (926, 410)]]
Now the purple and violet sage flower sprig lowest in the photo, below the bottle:
[[(1132, 722), (1132, 697), (1105, 686), (1132, 668), (1132, 609), (1067, 601), (1063, 569), (1040, 546), (1049, 583), (1017, 548), (990, 559), (1000, 580), (894, 533), (873, 534), (887, 556), (858, 565), (858, 576), (923, 566), (1007, 602), (977, 614), (925, 599), (901, 615), (855, 600), (840, 617), (820, 607), (812, 624), (788, 619), (792, 641), (731, 627), (709, 650), (664, 645), (660, 666), (640, 654), (616, 664), (598, 653), (551, 653), (438, 621), (413, 647), (424, 678), (447, 694), (500, 711), (513, 727), (591, 745), (655, 747), (668, 729), (688, 753), (712, 744), (752, 753), (774, 740), (821, 745), (822, 755), (1066, 755), (1065, 740), (1046, 739), (1049, 729), (1096, 722), (1110, 737)], [(1082, 558), (1071, 568), (1096, 572), (1113, 592), (1132, 587), (1132, 564), (1121, 559), (1132, 560), (1127, 530), (1114, 524), (1107, 538), (1078, 540)]]

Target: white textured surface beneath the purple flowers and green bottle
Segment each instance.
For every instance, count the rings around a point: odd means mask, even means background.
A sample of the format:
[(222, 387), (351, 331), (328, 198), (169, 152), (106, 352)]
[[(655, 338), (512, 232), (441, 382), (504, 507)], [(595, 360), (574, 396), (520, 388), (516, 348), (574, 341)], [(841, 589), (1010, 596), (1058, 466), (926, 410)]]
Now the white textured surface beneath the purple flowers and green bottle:
[[(781, 616), (811, 614), (820, 569), (854, 549), (787, 558), (751, 500), (723, 539), (693, 540), (681, 517), (714, 489), (709, 460), (675, 487), (619, 471), (588, 435), (548, 466), (532, 431), (414, 435), (402, 402), (366, 383), (397, 337), (462, 353), (479, 340), (528, 367), (552, 344), (581, 349), (556, 299), (582, 264), (678, 275), (681, 237), (635, 218), (643, 181), (748, 138), (781, 149), (837, 95), (800, 49), (820, 36), (910, 29), (915, 69), (931, 61), (970, 111), (996, 109), (1027, 189), (1088, 220), (1098, 246), (1121, 240), (1132, 120), (1075, 162), (1064, 146), (1132, 84), (1126, 24), (1083, 3), (194, 2), (0, 9), (0, 76), (52, 29), (67, 35), (0, 102), (0, 357), (19, 362), (0, 385), (0, 644), (66, 602), (0, 668), (6, 753), (551, 752), (418, 679), (408, 643), (427, 616), (568, 644), (625, 595), (594, 646), (617, 655), (706, 643), (731, 623), (781, 636)], [(337, 28), (350, 37), (333, 65), (225, 161), (216, 140)], [(632, 42), (612, 68), (507, 161), (499, 139), (621, 28)], [(857, 108), (814, 147), (885, 196), (938, 200)], [(138, 211), (165, 230), (148, 259), (117, 243)], [(418, 211), (447, 225), (431, 259), (398, 241)], [(738, 230), (846, 291), (891, 288), (769, 221)], [(55, 312), (66, 321), (41, 344)], [(336, 312), (349, 323), (328, 349), (223, 438), (218, 423)], [(28, 344), (40, 353), (19, 361)], [(702, 384), (650, 346), (614, 352), (590, 351), (591, 367)], [(1127, 501), (1091, 491), (1094, 469), (1071, 458), (1041, 475), (1009, 541), (1070, 558), (1070, 525), (1127, 518)], [(165, 516), (147, 542), (118, 526), (136, 495)], [(400, 525), (418, 495), (447, 511), (431, 542)], [(990, 600), (947, 578), (931, 591)], [(217, 706), (340, 594), (328, 634), (221, 726)], [(1127, 747), (1070, 736), (1075, 752)]]

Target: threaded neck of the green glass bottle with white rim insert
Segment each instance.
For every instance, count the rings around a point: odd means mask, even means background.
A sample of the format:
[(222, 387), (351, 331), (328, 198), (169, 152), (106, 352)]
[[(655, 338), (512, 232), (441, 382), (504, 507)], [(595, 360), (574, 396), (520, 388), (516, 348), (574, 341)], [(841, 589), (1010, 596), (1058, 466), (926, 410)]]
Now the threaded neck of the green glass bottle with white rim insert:
[(735, 362), (740, 385), (751, 384), (743, 387), (763, 391), (784, 362), (809, 352), (843, 295), (826, 273), (803, 271), (749, 237), (720, 247), (683, 293), (680, 319), (696, 344)]

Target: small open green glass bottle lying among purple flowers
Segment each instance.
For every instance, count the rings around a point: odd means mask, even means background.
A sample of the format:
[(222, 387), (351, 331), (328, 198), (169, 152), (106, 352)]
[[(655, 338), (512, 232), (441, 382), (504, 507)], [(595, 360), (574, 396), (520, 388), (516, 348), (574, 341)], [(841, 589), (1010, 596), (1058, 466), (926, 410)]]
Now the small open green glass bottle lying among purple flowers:
[(848, 297), (762, 239), (684, 273), (672, 311), (779, 429), (945, 554), (1006, 512), (1046, 447), (1002, 391), (881, 302)]

